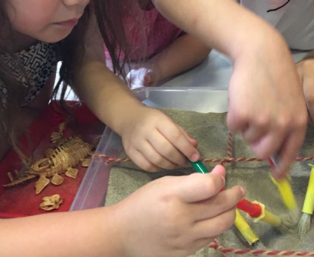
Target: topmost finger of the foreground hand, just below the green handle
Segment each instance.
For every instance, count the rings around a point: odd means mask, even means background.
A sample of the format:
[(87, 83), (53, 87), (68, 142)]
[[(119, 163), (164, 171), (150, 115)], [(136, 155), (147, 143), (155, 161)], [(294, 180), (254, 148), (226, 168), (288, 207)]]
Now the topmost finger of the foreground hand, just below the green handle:
[(193, 173), (181, 179), (182, 182), (178, 184), (176, 191), (178, 196), (185, 202), (209, 199), (225, 185), (224, 177), (219, 174)]

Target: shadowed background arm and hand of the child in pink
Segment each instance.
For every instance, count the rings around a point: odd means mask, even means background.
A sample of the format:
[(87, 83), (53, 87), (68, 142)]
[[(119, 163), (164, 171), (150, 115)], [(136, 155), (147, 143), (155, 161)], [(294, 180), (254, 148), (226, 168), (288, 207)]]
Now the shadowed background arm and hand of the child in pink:
[(210, 48), (193, 35), (184, 34), (147, 63), (131, 70), (128, 83), (131, 88), (156, 86), (158, 81), (198, 65), (209, 52)]

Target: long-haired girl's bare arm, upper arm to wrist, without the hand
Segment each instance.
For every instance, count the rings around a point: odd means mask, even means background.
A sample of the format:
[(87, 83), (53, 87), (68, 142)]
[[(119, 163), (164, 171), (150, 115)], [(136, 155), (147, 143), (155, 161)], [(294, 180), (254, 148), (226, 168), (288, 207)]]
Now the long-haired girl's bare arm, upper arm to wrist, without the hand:
[(121, 135), (124, 122), (143, 105), (128, 86), (106, 67), (103, 44), (92, 16), (85, 37), (83, 62), (76, 67), (72, 87), (102, 122)]

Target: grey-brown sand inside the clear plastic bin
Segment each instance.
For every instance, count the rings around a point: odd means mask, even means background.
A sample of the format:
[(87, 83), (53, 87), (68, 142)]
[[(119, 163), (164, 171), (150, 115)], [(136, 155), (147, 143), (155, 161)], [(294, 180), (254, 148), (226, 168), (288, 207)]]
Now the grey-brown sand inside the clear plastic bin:
[[(173, 120), (178, 122), (198, 142), (198, 150), (202, 158), (227, 157), (228, 129), (226, 126), (226, 114), (200, 114), (180, 110), (163, 110)], [(299, 156), (314, 156), (314, 130), (308, 129), (307, 138)], [(122, 156), (125, 156), (123, 154)], [(233, 137), (234, 157), (255, 157), (250, 147), (242, 141), (239, 135)], [(291, 169), (292, 188), (302, 209), (308, 177), (311, 168), (309, 162), (295, 163)], [(211, 170), (215, 164), (206, 163)], [(247, 200), (259, 200), (271, 212), (285, 217), (287, 208), (282, 203), (277, 188), (269, 179), (270, 167), (266, 162), (237, 162), (225, 165), (227, 169), (226, 187), (242, 185), (246, 191)], [(193, 172), (190, 168), (173, 171), (161, 171), (149, 173), (141, 171), (133, 163), (116, 164), (111, 170), (105, 205), (114, 204), (144, 184), (165, 175), (184, 175)], [(261, 242), (269, 249), (314, 251), (311, 229), (304, 240), (300, 240), (296, 230), (289, 234), (281, 234), (277, 229), (265, 223), (252, 223), (248, 221)], [(218, 238), (219, 243), (225, 247), (247, 248), (249, 245), (243, 242), (236, 228), (233, 226)], [(191, 257), (221, 256), (212, 249), (204, 248)]]

